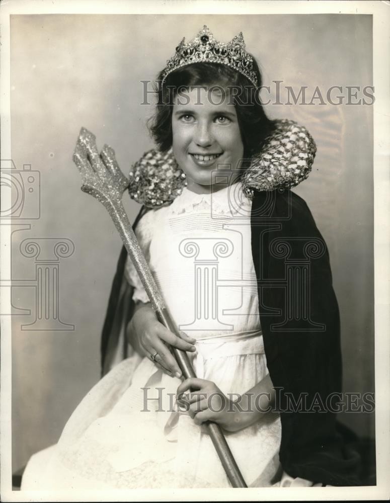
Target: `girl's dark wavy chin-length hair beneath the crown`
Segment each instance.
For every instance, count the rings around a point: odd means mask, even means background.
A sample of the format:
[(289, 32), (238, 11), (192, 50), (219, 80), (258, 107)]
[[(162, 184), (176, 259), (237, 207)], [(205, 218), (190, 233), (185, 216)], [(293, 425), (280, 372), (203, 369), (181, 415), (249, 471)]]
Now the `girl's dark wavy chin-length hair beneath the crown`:
[[(254, 59), (254, 70), (258, 87), (243, 74), (220, 63), (200, 62), (179, 68), (168, 75), (162, 85), (162, 70), (155, 83), (157, 111), (148, 121), (150, 133), (160, 150), (168, 151), (172, 146), (172, 109), (175, 96), (191, 87), (217, 86), (228, 89), (229, 97), (236, 107), (244, 156), (248, 159), (261, 150), (264, 140), (272, 133), (274, 121), (270, 120), (260, 101), (259, 89), (262, 76)], [(234, 91), (231, 91), (233, 90)]]

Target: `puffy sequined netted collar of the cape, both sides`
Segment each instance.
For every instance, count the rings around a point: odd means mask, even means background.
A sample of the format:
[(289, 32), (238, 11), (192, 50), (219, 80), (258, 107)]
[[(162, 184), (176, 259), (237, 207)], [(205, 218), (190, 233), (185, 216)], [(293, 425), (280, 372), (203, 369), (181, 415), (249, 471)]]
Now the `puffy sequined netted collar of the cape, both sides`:
[[(244, 194), (297, 186), (305, 180), (316, 155), (316, 143), (303, 126), (283, 119), (241, 176)], [(171, 204), (186, 187), (186, 175), (178, 166), (172, 148), (163, 153), (152, 149), (131, 166), (129, 194), (147, 208)]]

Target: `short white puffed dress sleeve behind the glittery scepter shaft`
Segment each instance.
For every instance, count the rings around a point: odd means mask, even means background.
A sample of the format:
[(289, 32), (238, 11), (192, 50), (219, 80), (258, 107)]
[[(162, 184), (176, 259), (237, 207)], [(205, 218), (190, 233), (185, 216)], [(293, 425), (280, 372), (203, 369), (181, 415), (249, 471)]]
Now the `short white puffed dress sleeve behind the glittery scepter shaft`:
[[(143, 251), (143, 255), (145, 256), (146, 262), (149, 262), (150, 260), (150, 253), (149, 253), (149, 248), (150, 248), (150, 241), (153, 235), (153, 228), (152, 228), (152, 222), (153, 219), (150, 218), (150, 214), (153, 213), (153, 211), (148, 211), (143, 217), (139, 220), (136, 228), (135, 228), (135, 235), (137, 237), (138, 243)], [(141, 283), (141, 280), (139, 279), (138, 273), (135, 270), (135, 267), (133, 266), (133, 263), (130, 260), (130, 257), (127, 256), (126, 259), (126, 265), (125, 265), (125, 271), (124, 275), (126, 277), (126, 280), (129, 282), (129, 284), (134, 287), (134, 292), (133, 292), (133, 300), (134, 302), (149, 302), (149, 297), (147, 296), (147, 293), (145, 292), (145, 289), (143, 288), (143, 285)]]

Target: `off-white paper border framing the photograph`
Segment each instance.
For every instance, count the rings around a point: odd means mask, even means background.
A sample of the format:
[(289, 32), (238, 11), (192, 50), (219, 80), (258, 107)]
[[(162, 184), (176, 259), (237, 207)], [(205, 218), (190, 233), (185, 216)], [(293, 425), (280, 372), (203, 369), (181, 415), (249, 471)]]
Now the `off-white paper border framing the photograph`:
[[(110, 491), (13, 491), (11, 469), (11, 318), (1, 320), (0, 456), (3, 501), (185, 501), (185, 500), (362, 500), (390, 497), (390, 2), (365, 1), (184, 1), (88, 2), (74, 0), (11, 0), (0, 5), (1, 145), (2, 159), (11, 159), (10, 16), (26, 14), (372, 14), (374, 107), (374, 296), (375, 296), (375, 440), (376, 486), (248, 489), (113, 489)], [(2, 187), (6, 207), (10, 191)], [(2, 226), (1, 271), (11, 277), (11, 226)], [(11, 291), (2, 289), (1, 304), (11, 309)], [(7, 311), (11, 312), (11, 311)], [(234, 492), (231, 492), (234, 491)]]

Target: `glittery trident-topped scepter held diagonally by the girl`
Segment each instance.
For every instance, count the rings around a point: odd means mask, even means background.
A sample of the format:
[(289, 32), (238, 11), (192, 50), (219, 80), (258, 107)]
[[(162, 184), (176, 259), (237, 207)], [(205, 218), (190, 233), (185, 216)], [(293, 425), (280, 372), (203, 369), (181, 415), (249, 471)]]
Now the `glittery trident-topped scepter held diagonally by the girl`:
[[(94, 196), (110, 213), (159, 320), (171, 332), (180, 337), (179, 330), (155, 284), (123, 207), (122, 196), (129, 185), (129, 180), (121, 172), (115, 159), (114, 150), (108, 145), (104, 145), (99, 154), (96, 147), (96, 137), (87, 129), (82, 128), (77, 139), (73, 161), (82, 176), (81, 190)], [(172, 349), (183, 376), (186, 379), (196, 377), (187, 353), (177, 348)], [(247, 487), (222, 430), (211, 421), (205, 424), (231, 485), (233, 487)]]

